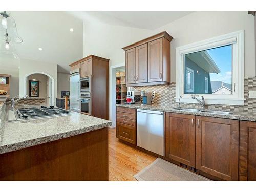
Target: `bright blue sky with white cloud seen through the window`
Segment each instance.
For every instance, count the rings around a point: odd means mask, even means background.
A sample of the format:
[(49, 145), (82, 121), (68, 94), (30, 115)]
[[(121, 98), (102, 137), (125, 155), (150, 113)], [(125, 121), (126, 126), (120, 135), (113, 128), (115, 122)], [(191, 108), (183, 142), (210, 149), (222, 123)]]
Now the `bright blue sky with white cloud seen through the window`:
[(215, 61), (216, 65), (220, 69), (220, 73), (210, 73), (211, 81), (223, 81), (231, 84), (231, 72), (232, 72), (232, 46), (223, 46), (219, 48), (207, 50), (212, 60)]

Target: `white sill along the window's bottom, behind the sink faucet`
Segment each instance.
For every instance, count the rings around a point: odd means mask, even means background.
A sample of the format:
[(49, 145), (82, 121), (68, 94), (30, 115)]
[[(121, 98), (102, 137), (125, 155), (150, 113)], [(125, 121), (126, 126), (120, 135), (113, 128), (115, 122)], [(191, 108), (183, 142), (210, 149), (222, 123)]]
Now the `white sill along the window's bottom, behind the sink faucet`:
[[(200, 97), (199, 97), (200, 99)], [(201, 100), (201, 99), (200, 99)], [(239, 106), (243, 106), (244, 105), (244, 101), (246, 99), (244, 98), (238, 98), (238, 99), (233, 99), (233, 98), (229, 98), (229, 99), (207, 99), (204, 98), (205, 100), (205, 104), (218, 104), (218, 105), (239, 105)], [(175, 98), (176, 102), (179, 102), (179, 98)], [(191, 99), (191, 98), (182, 98), (180, 100), (180, 103), (198, 103), (199, 102), (196, 99)]]

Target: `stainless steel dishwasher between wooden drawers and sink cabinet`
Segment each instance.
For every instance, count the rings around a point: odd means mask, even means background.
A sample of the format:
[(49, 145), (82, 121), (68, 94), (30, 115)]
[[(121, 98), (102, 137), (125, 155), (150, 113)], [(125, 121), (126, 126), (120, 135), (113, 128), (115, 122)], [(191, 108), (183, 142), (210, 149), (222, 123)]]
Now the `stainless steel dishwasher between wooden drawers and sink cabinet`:
[(137, 110), (137, 145), (148, 151), (164, 155), (163, 112)]

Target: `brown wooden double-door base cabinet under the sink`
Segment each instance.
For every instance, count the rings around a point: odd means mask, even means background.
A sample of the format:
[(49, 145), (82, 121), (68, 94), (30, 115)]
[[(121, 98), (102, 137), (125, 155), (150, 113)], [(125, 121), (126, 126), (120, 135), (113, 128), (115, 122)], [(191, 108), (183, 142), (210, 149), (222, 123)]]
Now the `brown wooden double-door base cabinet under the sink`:
[[(256, 123), (254, 131), (256, 135)], [(165, 157), (195, 167), (202, 175), (239, 180), (239, 121), (166, 113)]]

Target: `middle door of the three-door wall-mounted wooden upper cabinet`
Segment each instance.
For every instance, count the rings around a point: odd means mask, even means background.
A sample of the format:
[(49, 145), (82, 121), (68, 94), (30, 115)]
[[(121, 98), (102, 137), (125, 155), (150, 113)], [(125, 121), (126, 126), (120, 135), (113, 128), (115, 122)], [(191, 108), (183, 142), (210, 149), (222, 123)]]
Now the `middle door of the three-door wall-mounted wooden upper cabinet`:
[(136, 83), (147, 82), (147, 44), (136, 47)]

